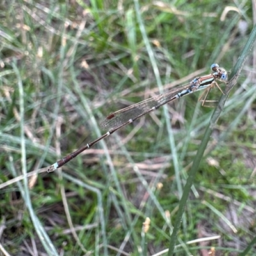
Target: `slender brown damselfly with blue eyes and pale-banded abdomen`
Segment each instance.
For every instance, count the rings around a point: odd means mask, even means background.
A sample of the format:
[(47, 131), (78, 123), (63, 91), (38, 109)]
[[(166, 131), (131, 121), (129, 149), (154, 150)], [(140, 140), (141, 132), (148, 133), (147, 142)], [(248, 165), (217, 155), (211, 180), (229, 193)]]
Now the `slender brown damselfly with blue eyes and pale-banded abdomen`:
[[(83, 152), (84, 150), (95, 145), (100, 140), (103, 140), (104, 138), (108, 137), (110, 134), (117, 131), (118, 129), (124, 127), (127, 124), (131, 124), (138, 118), (141, 118), (141, 116), (144, 116), (150, 113), (151, 111), (156, 110), (157, 108), (163, 106), (164, 104), (171, 102), (172, 100), (179, 99), (180, 97), (188, 95), (189, 93), (197, 92), (205, 88), (211, 89), (212, 86), (214, 86), (214, 84), (218, 86), (218, 84), (216, 83), (216, 79), (224, 83), (227, 82), (227, 79), (228, 79), (227, 71), (224, 68), (220, 68), (218, 64), (212, 64), (211, 70), (212, 70), (212, 73), (209, 75), (195, 77), (188, 84), (179, 86), (177, 88), (173, 88), (168, 92), (157, 95), (147, 100), (143, 100), (127, 108), (123, 108), (114, 113), (111, 113), (100, 124), (102, 129), (108, 129), (108, 132), (106, 132), (106, 134), (100, 136), (96, 140), (93, 140), (92, 142), (86, 144), (84, 147), (77, 149), (75, 152), (69, 154), (63, 159), (52, 164), (48, 168), (47, 172), (53, 172), (57, 168), (60, 168), (64, 164), (68, 163), (71, 159), (81, 154), (81, 152)], [(219, 86), (218, 88), (221, 90)]]

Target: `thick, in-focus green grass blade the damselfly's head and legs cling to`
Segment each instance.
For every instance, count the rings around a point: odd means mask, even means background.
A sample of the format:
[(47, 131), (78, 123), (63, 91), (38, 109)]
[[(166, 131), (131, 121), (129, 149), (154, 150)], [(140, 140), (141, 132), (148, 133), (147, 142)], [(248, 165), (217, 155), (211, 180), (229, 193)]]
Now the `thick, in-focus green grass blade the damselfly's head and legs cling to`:
[(198, 152), (193, 161), (191, 170), (189, 171), (189, 177), (188, 177), (187, 183), (184, 187), (184, 193), (182, 195), (182, 198), (180, 199), (179, 211), (177, 212), (177, 216), (176, 216), (176, 220), (175, 220), (174, 228), (173, 228), (173, 233), (172, 233), (172, 236), (170, 239), (168, 256), (173, 255), (176, 239), (177, 239), (179, 228), (180, 228), (180, 221), (182, 220), (182, 215), (184, 213), (186, 202), (188, 200), (188, 195), (189, 195), (191, 186), (193, 184), (193, 180), (195, 179), (196, 171), (198, 170), (199, 164), (202, 160), (202, 157), (204, 156), (204, 151), (205, 151), (207, 143), (210, 139), (210, 136), (212, 134), (212, 130), (214, 129), (214, 127), (218, 121), (218, 118), (220, 117), (221, 111), (224, 107), (225, 102), (227, 101), (230, 90), (232, 90), (232, 88), (236, 85), (237, 78), (243, 68), (246, 58), (250, 54), (250, 51), (253, 47), (255, 39), (256, 39), (256, 26), (254, 26), (252, 33), (250, 34), (248, 41), (247, 41), (246, 45), (244, 46), (243, 52), (239, 56), (237, 63), (230, 74), (231, 79), (227, 84), (227, 87), (225, 90), (225, 95), (221, 96), (218, 107), (215, 109), (214, 113), (212, 114), (211, 121), (205, 131), (204, 138), (202, 139), (200, 147), (198, 148)]

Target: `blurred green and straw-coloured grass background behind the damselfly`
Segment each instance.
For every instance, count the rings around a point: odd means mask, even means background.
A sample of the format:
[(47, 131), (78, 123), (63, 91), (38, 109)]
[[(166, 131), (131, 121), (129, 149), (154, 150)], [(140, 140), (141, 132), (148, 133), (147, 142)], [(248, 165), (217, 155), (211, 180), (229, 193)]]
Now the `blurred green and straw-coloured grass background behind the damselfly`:
[[(250, 1), (138, 4), (139, 12), (133, 1), (1, 2), (0, 243), (10, 255), (145, 256), (168, 248), (213, 111), (198, 102), (200, 93), (127, 125), (63, 172), (40, 170), (95, 140), (104, 117), (157, 95), (161, 84), (188, 83), (212, 63), (229, 71), (255, 15)], [(238, 255), (255, 236), (254, 56), (200, 164), (175, 255), (211, 247)], [(28, 182), (14, 180), (36, 170)], [(186, 244), (212, 236), (221, 237)]]

